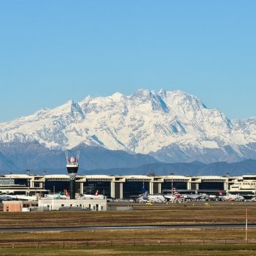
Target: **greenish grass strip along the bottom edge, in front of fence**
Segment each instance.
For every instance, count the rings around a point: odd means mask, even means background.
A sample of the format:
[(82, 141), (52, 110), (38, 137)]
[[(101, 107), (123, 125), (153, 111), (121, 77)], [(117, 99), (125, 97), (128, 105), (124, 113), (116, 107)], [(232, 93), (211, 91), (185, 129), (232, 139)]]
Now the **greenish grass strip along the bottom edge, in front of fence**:
[(14, 248), (1, 249), (1, 256), (72, 256), (72, 255), (212, 255), (243, 256), (255, 255), (256, 245), (149, 245), (80, 248)]

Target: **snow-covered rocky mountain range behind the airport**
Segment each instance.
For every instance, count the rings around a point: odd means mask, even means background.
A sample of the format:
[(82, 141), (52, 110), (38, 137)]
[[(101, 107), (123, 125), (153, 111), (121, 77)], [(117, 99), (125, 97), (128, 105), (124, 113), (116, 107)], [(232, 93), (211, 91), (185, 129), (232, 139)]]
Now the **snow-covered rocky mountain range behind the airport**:
[(166, 162), (239, 161), (256, 159), (256, 117), (228, 119), (180, 90), (137, 90), (70, 100), (1, 123), (0, 143), (10, 142), (61, 150), (85, 144)]

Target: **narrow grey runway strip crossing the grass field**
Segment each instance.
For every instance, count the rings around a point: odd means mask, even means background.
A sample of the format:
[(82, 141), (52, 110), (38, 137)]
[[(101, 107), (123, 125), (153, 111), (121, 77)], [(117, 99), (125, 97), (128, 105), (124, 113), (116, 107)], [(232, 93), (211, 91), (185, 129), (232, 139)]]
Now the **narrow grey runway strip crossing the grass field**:
[[(256, 228), (256, 224), (250, 223), (248, 228)], [(178, 225), (121, 225), (121, 226), (77, 226), (77, 227), (34, 227), (34, 228), (0, 228), (0, 233), (21, 232), (53, 232), (53, 231), (86, 231), (86, 230), (146, 230), (146, 229), (216, 229), (216, 228), (245, 228), (245, 223), (216, 223), (216, 224), (178, 224)]]

